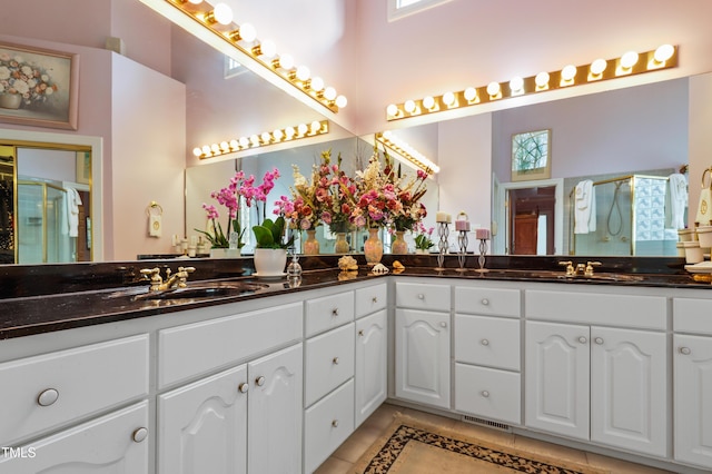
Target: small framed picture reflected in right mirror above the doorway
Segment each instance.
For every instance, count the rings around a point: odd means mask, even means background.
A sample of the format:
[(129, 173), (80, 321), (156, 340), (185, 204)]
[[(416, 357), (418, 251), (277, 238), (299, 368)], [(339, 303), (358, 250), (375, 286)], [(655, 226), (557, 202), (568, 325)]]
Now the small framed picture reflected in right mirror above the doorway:
[(552, 174), (551, 130), (512, 136), (512, 180), (548, 179)]

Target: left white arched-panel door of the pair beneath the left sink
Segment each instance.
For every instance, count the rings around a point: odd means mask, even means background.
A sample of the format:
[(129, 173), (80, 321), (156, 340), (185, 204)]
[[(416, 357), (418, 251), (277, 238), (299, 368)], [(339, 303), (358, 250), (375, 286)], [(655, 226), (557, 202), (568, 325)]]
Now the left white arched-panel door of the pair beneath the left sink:
[(158, 397), (160, 474), (247, 472), (247, 366)]

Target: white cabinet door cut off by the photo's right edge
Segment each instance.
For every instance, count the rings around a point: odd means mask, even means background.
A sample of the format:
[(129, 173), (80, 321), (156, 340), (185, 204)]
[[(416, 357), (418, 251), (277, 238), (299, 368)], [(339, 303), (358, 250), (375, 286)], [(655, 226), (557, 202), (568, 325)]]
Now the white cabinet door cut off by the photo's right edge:
[(674, 336), (675, 460), (712, 470), (712, 337)]

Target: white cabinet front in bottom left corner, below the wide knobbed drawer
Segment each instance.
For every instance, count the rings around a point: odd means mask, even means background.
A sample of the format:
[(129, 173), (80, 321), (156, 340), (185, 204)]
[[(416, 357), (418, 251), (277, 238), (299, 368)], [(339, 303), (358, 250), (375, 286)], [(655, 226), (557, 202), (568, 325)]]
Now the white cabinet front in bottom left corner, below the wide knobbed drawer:
[(147, 474), (148, 446), (148, 402), (142, 402), (3, 453), (0, 473)]

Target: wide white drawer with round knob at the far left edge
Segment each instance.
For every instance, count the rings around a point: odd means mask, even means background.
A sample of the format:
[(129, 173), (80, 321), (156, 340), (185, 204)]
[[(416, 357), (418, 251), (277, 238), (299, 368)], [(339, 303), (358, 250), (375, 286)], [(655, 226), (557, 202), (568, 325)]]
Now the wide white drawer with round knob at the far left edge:
[(148, 394), (148, 335), (0, 365), (0, 445)]

